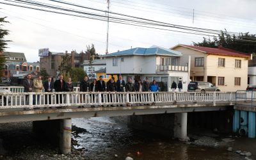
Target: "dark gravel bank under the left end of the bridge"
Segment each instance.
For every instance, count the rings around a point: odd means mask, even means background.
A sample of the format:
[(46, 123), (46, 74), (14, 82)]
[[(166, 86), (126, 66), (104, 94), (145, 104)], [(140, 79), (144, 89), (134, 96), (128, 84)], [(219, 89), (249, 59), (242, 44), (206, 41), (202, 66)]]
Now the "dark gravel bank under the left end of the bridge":
[(33, 134), (32, 122), (0, 124), (0, 159), (89, 159), (84, 148), (75, 145), (77, 141), (72, 139), (72, 153), (59, 154), (57, 147)]

